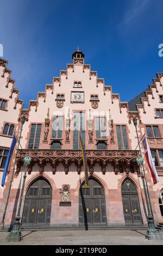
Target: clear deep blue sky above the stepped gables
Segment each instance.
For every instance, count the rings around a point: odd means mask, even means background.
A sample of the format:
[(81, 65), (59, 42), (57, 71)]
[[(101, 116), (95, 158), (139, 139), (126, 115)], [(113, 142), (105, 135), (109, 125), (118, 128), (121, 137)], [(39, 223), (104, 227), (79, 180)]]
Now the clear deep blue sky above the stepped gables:
[(24, 104), (72, 63), (77, 46), (129, 101), (163, 72), (162, 0), (0, 0), (0, 44)]

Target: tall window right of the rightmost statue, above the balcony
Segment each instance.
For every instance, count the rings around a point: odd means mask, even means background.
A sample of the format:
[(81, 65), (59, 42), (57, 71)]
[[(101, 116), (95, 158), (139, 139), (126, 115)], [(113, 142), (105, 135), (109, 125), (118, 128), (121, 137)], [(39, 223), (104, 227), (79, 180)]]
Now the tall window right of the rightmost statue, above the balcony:
[(118, 149), (128, 150), (128, 139), (126, 132), (126, 125), (116, 125), (117, 139), (118, 139)]

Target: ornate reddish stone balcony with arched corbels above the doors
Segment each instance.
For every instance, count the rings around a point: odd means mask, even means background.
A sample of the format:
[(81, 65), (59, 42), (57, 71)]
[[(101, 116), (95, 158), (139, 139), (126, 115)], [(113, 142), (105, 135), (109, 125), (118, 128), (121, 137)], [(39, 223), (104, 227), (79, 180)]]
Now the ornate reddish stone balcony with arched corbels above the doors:
[[(101, 166), (103, 174), (105, 174), (107, 163), (112, 164), (116, 174), (119, 172), (118, 164), (126, 166), (126, 172), (129, 172), (130, 164), (135, 166), (137, 172), (139, 170), (136, 163), (136, 158), (139, 156), (139, 150), (85, 150), (85, 155), (90, 173), (93, 172), (93, 166), (95, 166), (96, 163), (99, 163)], [(32, 171), (32, 167), (36, 162), (39, 164), (40, 173), (43, 173), (43, 168), (46, 163), (51, 163), (53, 174), (56, 172), (58, 163), (64, 164), (66, 174), (68, 173), (68, 167), (71, 163), (76, 164), (78, 173), (80, 173), (83, 164), (81, 150), (18, 149), (15, 157), (17, 165), (16, 173), (20, 171), (25, 156), (32, 157), (32, 163), (29, 166), (28, 173)]]

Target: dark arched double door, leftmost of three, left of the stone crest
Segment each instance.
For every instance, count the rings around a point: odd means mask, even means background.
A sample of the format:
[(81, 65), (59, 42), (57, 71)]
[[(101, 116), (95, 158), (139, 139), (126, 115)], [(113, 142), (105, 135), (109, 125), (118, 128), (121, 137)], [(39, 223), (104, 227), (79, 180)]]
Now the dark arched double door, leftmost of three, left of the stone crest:
[(52, 188), (43, 178), (35, 180), (26, 193), (22, 225), (48, 225), (51, 220)]

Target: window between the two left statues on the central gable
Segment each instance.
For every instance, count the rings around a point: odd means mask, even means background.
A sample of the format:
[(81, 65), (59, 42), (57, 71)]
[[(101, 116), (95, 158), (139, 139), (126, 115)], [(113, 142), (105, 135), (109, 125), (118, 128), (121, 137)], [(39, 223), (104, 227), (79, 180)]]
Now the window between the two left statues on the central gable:
[(53, 117), (52, 138), (62, 138), (63, 117)]

